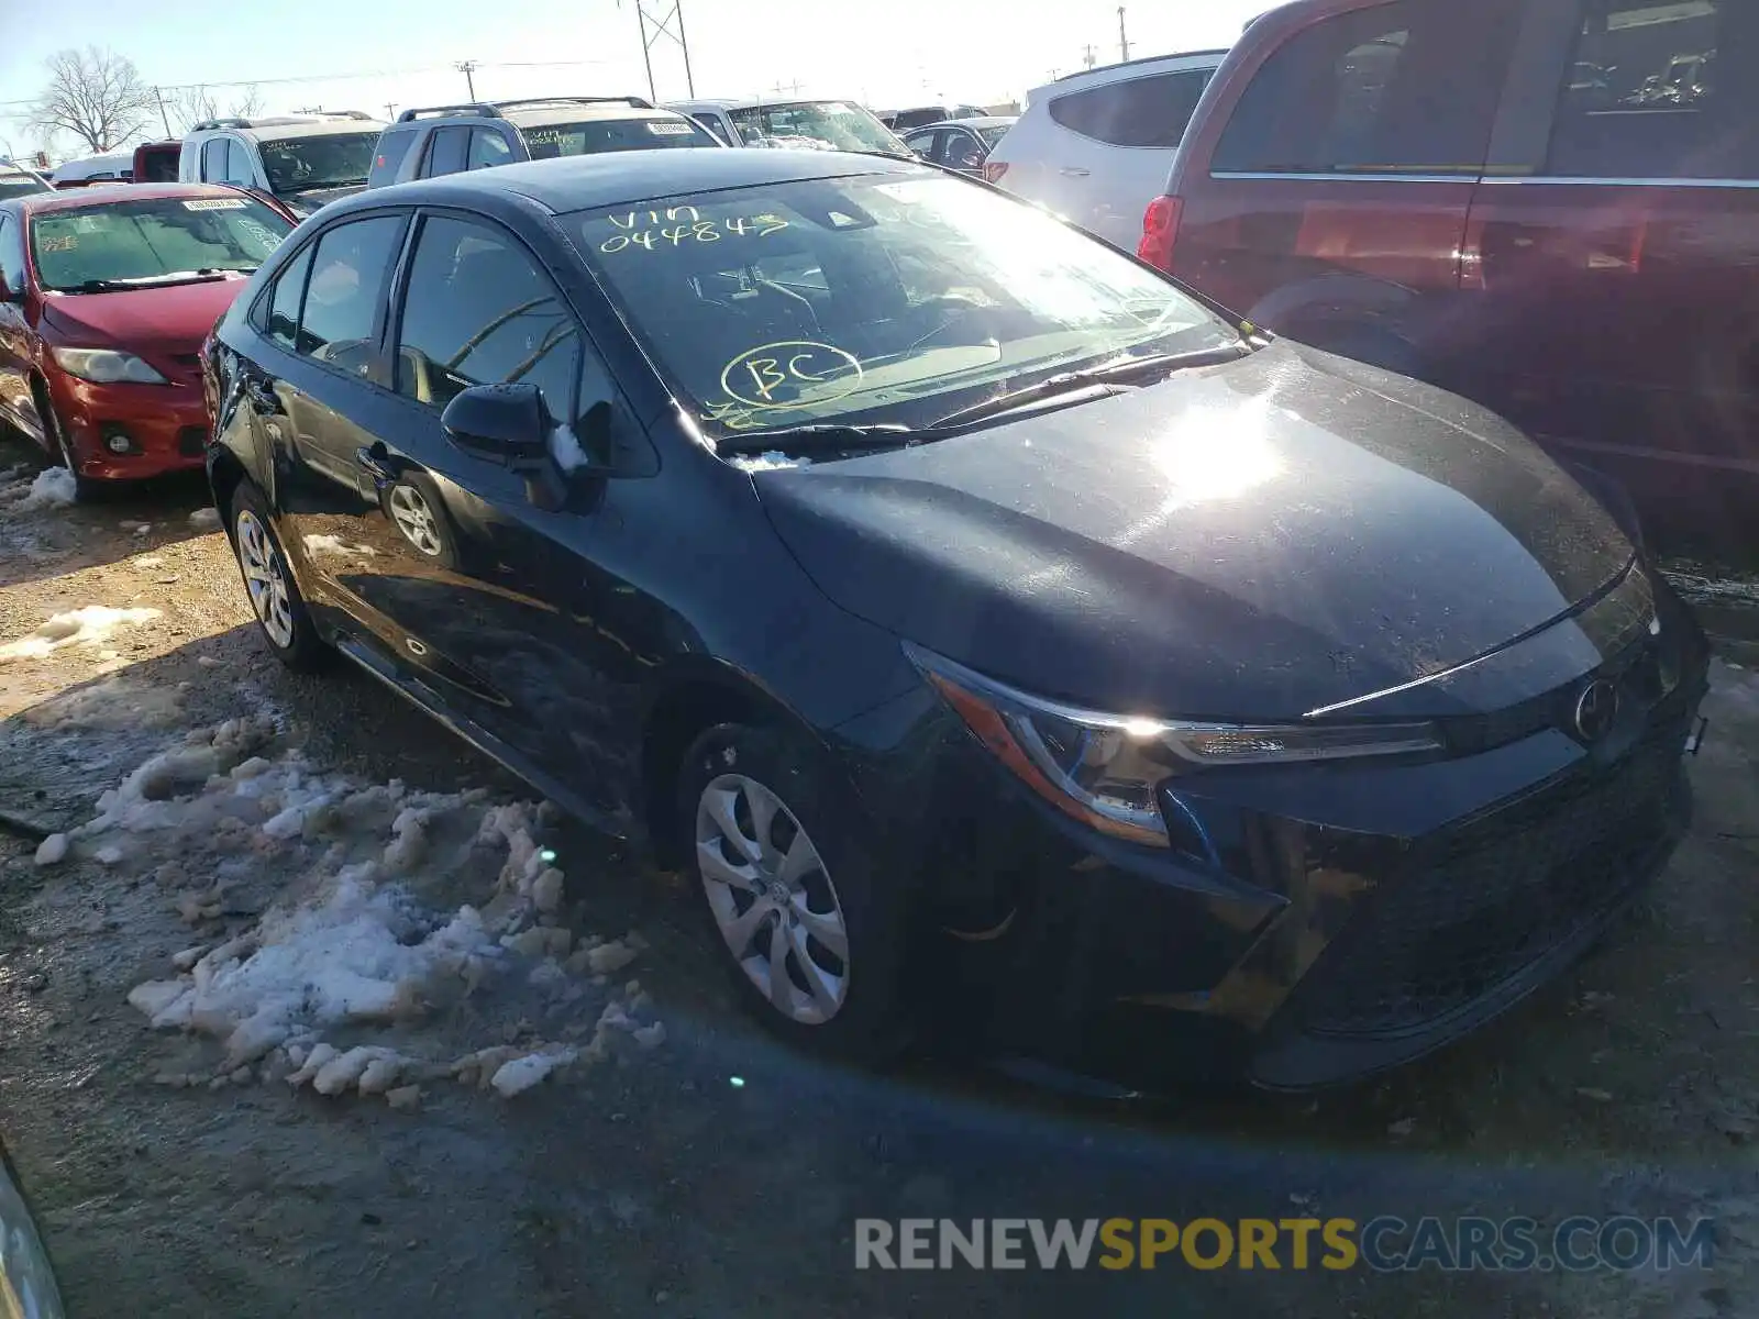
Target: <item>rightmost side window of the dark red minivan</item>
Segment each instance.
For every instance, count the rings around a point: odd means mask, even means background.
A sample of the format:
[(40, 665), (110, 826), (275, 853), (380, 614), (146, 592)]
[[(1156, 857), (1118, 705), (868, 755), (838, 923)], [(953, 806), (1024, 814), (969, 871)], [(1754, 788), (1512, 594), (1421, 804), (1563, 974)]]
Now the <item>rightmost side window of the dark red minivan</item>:
[[(1548, 174), (1564, 178), (1724, 178), (1745, 172), (1734, 149), (1747, 134), (1719, 79), (1729, 63), (1727, 0), (1659, 5), (1588, 0), (1558, 93)], [(1740, 69), (1740, 63), (1731, 67)], [(1747, 165), (1741, 171), (1741, 165)]]

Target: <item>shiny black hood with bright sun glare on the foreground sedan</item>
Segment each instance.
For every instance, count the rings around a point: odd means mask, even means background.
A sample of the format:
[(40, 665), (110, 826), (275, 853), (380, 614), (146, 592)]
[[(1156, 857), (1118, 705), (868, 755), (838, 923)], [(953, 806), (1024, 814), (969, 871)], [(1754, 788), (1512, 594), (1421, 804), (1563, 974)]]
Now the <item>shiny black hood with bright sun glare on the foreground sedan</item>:
[(1286, 341), (753, 482), (843, 608), (1120, 712), (1298, 718), (1411, 684), (1573, 612), (1634, 557), (1492, 413)]

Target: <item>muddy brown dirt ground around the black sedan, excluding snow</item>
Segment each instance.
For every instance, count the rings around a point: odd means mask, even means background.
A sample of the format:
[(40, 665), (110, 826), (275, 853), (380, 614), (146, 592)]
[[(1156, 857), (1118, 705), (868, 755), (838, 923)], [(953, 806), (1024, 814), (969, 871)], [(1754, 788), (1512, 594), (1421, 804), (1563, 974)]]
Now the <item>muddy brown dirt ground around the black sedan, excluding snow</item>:
[[(0, 473), (12, 464), (30, 455), (0, 440)], [(529, 797), (364, 677), (285, 674), (255, 637), (223, 536), (190, 522), (199, 484), (25, 510), (32, 471), (0, 480), (0, 645), (81, 607), (158, 614), (0, 663), (0, 813), (74, 827), (188, 730), (253, 716), (273, 725), (262, 754), (297, 749), (355, 784)], [(1493, 1029), (1317, 1101), (1099, 1101), (973, 1062), (892, 1075), (809, 1062), (732, 1011), (688, 893), (566, 823), (544, 835), (568, 876), (566, 923), (633, 927), (647, 950), (610, 983), (570, 981), (559, 997), (503, 976), (385, 1038), (434, 1057), (582, 1039), (639, 976), (646, 1011), (665, 1024), (658, 1048), (619, 1038), (595, 1066), (514, 1099), (433, 1082), (413, 1111), (259, 1076), (167, 1085), (178, 1069), (211, 1068), (211, 1048), (148, 1029), (128, 992), (174, 974), (178, 951), (248, 929), (341, 844), (325, 853), (294, 837), (216, 860), (218, 837), (137, 834), (109, 864), (76, 846), (39, 867), (35, 837), (0, 830), (0, 1131), (69, 1310), (1759, 1314), (1759, 654), (1743, 640), (1759, 628), (1740, 586), (1682, 572), (1708, 584), (1722, 658), (1712, 735), (1692, 762), (1697, 818), (1650, 902)], [(493, 883), (498, 858), (480, 848), (456, 841), (443, 855), (456, 864), (426, 867), (438, 878), (420, 890), (436, 906)], [(230, 867), (236, 886), (192, 927), (176, 902), (208, 865)], [(853, 1268), (857, 1217), (1296, 1210), (1712, 1215), (1717, 1256), (1710, 1272), (1631, 1275)]]

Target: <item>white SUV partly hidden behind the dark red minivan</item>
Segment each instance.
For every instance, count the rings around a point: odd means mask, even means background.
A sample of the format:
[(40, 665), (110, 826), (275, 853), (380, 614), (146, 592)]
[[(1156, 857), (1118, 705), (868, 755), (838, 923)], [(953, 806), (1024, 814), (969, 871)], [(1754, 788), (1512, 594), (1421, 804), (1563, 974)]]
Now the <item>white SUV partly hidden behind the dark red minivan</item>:
[(983, 162), (983, 176), (1126, 251), (1226, 51), (1157, 55), (1059, 77)]

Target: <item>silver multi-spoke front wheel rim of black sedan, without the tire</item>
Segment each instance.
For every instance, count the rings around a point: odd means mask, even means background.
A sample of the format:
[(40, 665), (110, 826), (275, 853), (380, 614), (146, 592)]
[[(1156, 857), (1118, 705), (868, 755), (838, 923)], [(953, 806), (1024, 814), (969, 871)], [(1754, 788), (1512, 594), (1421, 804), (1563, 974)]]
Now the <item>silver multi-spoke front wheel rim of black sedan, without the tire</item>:
[(721, 774), (697, 802), (697, 869), (739, 969), (800, 1025), (837, 1015), (850, 992), (850, 936), (818, 848), (756, 779)]

